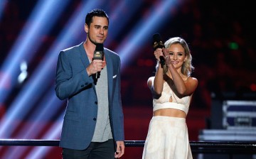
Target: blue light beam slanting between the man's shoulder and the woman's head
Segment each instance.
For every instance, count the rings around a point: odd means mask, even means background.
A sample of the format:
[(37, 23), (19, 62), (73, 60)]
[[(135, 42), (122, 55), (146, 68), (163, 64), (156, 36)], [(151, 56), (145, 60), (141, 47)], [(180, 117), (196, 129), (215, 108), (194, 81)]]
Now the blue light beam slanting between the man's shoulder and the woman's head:
[(139, 50), (141, 45), (150, 43), (151, 35), (164, 25), (164, 22), (171, 16), (169, 10), (175, 7), (175, 5), (176, 1), (161, 1), (159, 6), (152, 8), (149, 16), (147, 16), (148, 18), (142, 18), (129, 35), (127, 35), (126, 40), (116, 50), (122, 60), (122, 69), (126, 67), (132, 58), (136, 57), (137, 50)]

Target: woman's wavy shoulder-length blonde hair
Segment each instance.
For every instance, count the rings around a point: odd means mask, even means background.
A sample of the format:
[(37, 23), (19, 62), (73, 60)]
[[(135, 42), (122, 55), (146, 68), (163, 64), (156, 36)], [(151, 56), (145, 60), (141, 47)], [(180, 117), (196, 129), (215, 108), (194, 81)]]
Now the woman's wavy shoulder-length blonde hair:
[[(190, 53), (190, 50), (188, 48), (188, 44), (186, 43), (186, 41), (180, 37), (169, 38), (169, 40), (166, 40), (166, 42), (164, 43), (164, 46), (165, 48), (170, 48), (171, 45), (176, 43), (180, 44), (184, 48), (185, 56), (187, 57), (187, 60), (183, 63), (181, 67), (181, 73), (189, 77), (191, 75), (192, 70), (194, 70), (194, 67), (192, 65), (192, 55)], [(156, 64), (156, 70), (158, 69), (158, 67), (159, 67), (159, 61)], [(166, 74), (167, 71), (168, 71), (168, 67), (164, 65), (164, 74)]]

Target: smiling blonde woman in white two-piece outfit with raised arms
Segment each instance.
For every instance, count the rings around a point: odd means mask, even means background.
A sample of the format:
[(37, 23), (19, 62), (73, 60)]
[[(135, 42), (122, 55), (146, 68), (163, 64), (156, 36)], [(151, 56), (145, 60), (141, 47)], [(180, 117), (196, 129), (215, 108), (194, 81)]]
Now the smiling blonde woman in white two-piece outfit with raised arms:
[[(153, 117), (149, 124), (142, 158), (193, 158), (188, 141), (186, 116), (198, 80), (191, 77), (191, 53), (183, 38), (170, 38), (157, 48), (156, 75), (149, 77)], [(165, 65), (159, 65), (164, 56)]]

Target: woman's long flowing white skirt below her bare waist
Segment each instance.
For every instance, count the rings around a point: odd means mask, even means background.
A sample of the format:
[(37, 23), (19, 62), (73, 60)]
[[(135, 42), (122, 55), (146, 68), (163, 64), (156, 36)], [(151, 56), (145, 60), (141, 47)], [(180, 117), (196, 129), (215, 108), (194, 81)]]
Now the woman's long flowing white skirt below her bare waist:
[(142, 159), (191, 159), (186, 119), (153, 116)]

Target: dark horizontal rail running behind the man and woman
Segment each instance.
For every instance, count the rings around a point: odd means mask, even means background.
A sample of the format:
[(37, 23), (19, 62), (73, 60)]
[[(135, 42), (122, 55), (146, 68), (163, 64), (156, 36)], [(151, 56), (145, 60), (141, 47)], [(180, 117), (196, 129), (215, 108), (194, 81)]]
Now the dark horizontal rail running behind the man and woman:
[[(58, 146), (59, 140), (0, 139), (0, 146)], [(126, 147), (143, 147), (145, 141), (124, 141)], [(256, 141), (191, 141), (192, 153), (256, 154)]]

